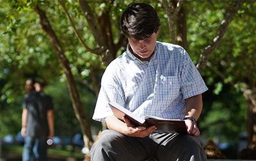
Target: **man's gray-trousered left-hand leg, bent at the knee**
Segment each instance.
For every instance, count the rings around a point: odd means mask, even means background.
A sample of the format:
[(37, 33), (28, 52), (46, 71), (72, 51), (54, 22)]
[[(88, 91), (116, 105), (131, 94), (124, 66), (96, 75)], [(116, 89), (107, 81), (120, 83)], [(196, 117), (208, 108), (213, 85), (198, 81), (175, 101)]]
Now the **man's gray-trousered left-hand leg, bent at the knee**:
[(104, 130), (100, 139), (91, 148), (91, 160), (145, 160), (148, 153), (141, 143), (148, 143), (148, 139), (137, 139), (114, 130)]

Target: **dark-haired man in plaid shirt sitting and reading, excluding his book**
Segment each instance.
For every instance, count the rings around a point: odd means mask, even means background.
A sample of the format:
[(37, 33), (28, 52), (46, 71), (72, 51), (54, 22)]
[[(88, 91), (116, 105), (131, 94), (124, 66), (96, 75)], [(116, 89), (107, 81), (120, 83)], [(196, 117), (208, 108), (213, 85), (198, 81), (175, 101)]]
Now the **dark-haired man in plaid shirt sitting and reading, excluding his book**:
[[(157, 41), (159, 18), (145, 3), (130, 4), (121, 18), (127, 50), (102, 76), (93, 119), (108, 130), (93, 144), (92, 161), (207, 160), (196, 120), (202, 111), (204, 80), (184, 48)], [(157, 127), (136, 127), (113, 115), (109, 102), (132, 113), (184, 120), (188, 134), (157, 133)]]

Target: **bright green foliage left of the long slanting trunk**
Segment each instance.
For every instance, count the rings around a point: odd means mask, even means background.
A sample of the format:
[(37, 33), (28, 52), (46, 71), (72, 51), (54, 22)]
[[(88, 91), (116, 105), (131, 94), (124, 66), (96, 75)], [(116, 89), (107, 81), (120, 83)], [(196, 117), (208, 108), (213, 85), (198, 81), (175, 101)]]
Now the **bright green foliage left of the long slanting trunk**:
[(52, 46), (43, 41), (48, 38), (36, 23), (36, 15), (29, 11), (15, 13), (15, 8), (9, 8), (5, 1), (1, 5), (6, 6), (0, 10), (3, 22), (0, 25), (3, 34), (0, 37), (0, 80), (5, 83), (1, 88), (1, 101), (11, 103), (18, 95), (25, 94), (28, 78), (56, 79), (60, 66)]

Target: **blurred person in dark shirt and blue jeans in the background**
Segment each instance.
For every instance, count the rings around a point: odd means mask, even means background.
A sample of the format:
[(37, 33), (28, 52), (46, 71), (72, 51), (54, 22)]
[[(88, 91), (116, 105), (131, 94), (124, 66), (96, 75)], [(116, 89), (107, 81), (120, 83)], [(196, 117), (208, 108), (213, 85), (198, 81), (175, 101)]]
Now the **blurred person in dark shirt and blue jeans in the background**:
[[(53, 103), (52, 98), (43, 92), (45, 81), (38, 80), (34, 87), (35, 90), (25, 95), (22, 106), (21, 134), (25, 138), (23, 161), (34, 159), (45, 161), (47, 139), (54, 136)], [(35, 155), (34, 158), (31, 157), (33, 155)]]

